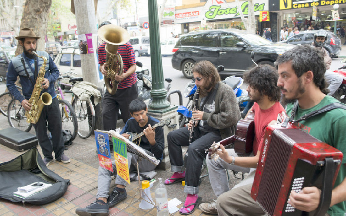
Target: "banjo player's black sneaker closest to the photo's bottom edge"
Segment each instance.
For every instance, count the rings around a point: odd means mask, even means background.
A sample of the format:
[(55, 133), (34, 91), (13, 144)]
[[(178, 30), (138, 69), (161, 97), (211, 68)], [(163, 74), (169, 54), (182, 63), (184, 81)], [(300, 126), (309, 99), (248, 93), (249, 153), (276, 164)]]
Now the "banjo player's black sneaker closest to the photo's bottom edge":
[(77, 208), (76, 214), (79, 216), (108, 216), (108, 204), (98, 199), (95, 203), (92, 203), (85, 208)]

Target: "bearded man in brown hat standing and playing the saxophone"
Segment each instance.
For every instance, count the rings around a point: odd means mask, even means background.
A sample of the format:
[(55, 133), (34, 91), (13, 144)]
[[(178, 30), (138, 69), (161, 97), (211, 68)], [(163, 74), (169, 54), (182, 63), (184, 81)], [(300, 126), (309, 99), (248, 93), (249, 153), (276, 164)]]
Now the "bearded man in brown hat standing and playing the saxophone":
[[(58, 71), (53, 59), (45, 51), (36, 51), (37, 39), (35, 32), (31, 28), (22, 28), (19, 36), (16, 37), (18, 43), (23, 47), (23, 53), (13, 58), (7, 71), (7, 88), (11, 94), (21, 103), (26, 111), (31, 109), (29, 99), (34, 90), (36, 78), (43, 64), (43, 59), (38, 56), (44, 56), (47, 59), (45, 66), (45, 75), (42, 82), (43, 92), (48, 92), (52, 96), (51, 105), (44, 106), (40, 117), (34, 125), (36, 136), (44, 155), (43, 161), (46, 166), (53, 160), (52, 151), (55, 153), (55, 159), (63, 163), (69, 163), (71, 160), (64, 154), (64, 141), (62, 136), (61, 115), (54, 89), (54, 82), (59, 77)], [(19, 76), (22, 85), (22, 94), (15, 86)], [(48, 130), (52, 134), (52, 143), (47, 135)]]

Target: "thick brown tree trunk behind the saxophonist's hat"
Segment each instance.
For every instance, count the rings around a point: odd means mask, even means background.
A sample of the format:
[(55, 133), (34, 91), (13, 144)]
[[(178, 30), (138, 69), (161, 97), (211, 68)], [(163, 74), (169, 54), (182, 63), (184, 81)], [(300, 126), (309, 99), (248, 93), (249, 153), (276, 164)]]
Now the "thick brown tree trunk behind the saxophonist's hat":
[[(49, 8), (51, 8), (52, 0), (36, 0), (26, 1), (23, 17), (20, 24), (22, 28), (33, 28), (37, 37), (37, 50), (45, 50), (44, 43), (47, 31), (47, 23), (49, 18)], [(21, 46), (17, 46), (16, 55), (23, 51)]]

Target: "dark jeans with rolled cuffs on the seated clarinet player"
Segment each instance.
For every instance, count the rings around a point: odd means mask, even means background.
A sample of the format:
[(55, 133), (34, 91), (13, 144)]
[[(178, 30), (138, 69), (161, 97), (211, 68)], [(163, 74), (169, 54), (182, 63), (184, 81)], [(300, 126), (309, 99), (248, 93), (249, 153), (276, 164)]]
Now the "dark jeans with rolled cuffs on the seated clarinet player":
[(198, 184), (201, 175), (203, 159), (206, 157), (206, 150), (215, 141), (221, 140), (220, 132), (203, 132), (195, 127), (192, 143), (189, 144), (190, 131), (188, 127), (172, 131), (167, 135), (168, 153), (171, 161), (171, 171), (184, 171), (184, 160), (182, 155), (182, 146), (189, 146), (188, 161), (186, 163), (185, 187), (184, 192), (188, 194), (197, 194), (199, 192)]

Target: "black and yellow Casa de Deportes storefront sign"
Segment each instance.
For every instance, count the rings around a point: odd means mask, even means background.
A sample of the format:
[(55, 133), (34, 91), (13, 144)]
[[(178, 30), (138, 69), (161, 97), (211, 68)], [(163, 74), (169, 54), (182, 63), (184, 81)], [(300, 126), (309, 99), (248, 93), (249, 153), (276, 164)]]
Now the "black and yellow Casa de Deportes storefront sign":
[(345, 4), (346, 0), (269, 0), (269, 11), (289, 10), (297, 8), (311, 8), (313, 6), (333, 6)]

